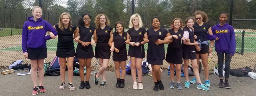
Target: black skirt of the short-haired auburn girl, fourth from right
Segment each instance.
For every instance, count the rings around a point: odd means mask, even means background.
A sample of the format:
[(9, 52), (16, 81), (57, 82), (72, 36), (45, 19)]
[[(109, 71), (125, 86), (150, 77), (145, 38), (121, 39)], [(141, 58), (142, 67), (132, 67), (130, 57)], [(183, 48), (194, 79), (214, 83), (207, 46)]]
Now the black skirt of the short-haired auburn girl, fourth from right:
[(182, 64), (182, 51), (178, 51), (175, 53), (167, 51), (165, 60), (168, 63)]

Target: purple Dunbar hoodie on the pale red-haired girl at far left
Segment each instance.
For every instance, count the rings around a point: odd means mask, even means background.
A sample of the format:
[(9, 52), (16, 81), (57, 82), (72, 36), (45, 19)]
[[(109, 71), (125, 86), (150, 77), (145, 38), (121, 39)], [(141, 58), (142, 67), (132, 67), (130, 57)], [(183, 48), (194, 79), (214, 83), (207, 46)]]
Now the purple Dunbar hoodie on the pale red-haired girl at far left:
[(55, 36), (56, 30), (45, 20), (39, 18), (37, 21), (33, 20), (33, 16), (28, 17), (22, 28), (22, 51), (27, 52), (27, 48), (44, 48), (46, 47), (46, 40), (50, 40), (51, 37), (46, 35), (46, 32), (50, 31)]

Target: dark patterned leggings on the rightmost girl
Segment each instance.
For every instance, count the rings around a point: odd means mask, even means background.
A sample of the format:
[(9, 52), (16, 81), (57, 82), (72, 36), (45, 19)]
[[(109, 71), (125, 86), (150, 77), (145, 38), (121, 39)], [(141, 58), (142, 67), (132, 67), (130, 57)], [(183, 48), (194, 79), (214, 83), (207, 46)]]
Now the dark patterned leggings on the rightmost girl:
[(229, 53), (217, 53), (218, 55), (218, 72), (219, 77), (223, 77), (222, 68), (224, 62), (224, 54), (225, 54), (225, 78), (229, 78), (229, 70), (230, 70), (230, 61), (231, 57), (229, 57)]

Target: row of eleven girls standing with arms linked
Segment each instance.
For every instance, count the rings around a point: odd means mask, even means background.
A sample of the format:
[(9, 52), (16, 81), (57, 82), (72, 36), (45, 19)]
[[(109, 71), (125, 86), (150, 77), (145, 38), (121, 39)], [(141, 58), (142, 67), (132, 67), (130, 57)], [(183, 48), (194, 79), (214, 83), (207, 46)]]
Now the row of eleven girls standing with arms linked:
[[(81, 83), (79, 89), (90, 88), (89, 78), (91, 71), (91, 60), (93, 57), (99, 59), (100, 69), (94, 74), (94, 83), (97, 85), (99, 76), (102, 81), (100, 87), (106, 85), (105, 69), (107, 68), (110, 53), (113, 52), (113, 61), (115, 65), (116, 85), (115, 87), (123, 88), (125, 86), (125, 63), (127, 56), (131, 59), (131, 73), (133, 79), (133, 89), (143, 89), (142, 83), (142, 60), (145, 58), (144, 44), (148, 43), (147, 62), (152, 66), (153, 80), (155, 86), (154, 91), (164, 90), (164, 84), (161, 81), (161, 65), (166, 59), (170, 63), (171, 84), (170, 88), (175, 87), (174, 83), (174, 68), (176, 68), (176, 86), (182, 89), (181, 86), (181, 64), (184, 61), (185, 87), (189, 88), (190, 83), (197, 83), (197, 88), (208, 91), (210, 81), (208, 78), (209, 67), (207, 63), (208, 53), (212, 52), (213, 42), (216, 41), (216, 52), (218, 53), (219, 63), (219, 87), (231, 88), (228, 83), (229, 66), (231, 57), (235, 53), (235, 37), (234, 29), (228, 25), (227, 13), (221, 13), (218, 23), (213, 28), (207, 24), (208, 17), (205, 12), (196, 11), (195, 17), (188, 17), (185, 20), (185, 27), (180, 18), (175, 18), (172, 21), (171, 29), (166, 30), (160, 28), (160, 19), (153, 17), (152, 27), (146, 30), (143, 27), (143, 22), (139, 14), (134, 14), (129, 20), (129, 30), (124, 32), (123, 23), (118, 21), (115, 23), (114, 29), (109, 26), (110, 22), (106, 15), (98, 14), (95, 17), (95, 26), (90, 25), (91, 16), (84, 13), (79, 18), (79, 24), (76, 27), (71, 22), (69, 13), (62, 13), (59, 17), (58, 24), (53, 27), (42, 20), (42, 9), (35, 6), (32, 10), (33, 16), (28, 18), (24, 23), (22, 30), (22, 50), (23, 56), (28, 58), (31, 62), (31, 78), (33, 81), (32, 95), (40, 92), (45, 92), (43, 87), (43, 61), (47, 57), (46, 40), (55, 39), (58, 35), (56, 56), (60, 61), (60, 77), (61, 84), (59, 90), (65, 87), (65, 67), (67, 60), (68, 68), (68, 88), (75, 90), (72, 84), (73, 79), (73, 60), (76, 56), (79, 60), (79, 73)], [(196, 18), (196, 20), (194, 19)], [(194, 24), (194, 22), (196, 23)], [(225, 30), (225, 31), (223, 31)], [(45, 36), (46, 33), (49, 35)], [(93, 38), (92, 38), (93, 36)], [(92, 39), (91, 39), (92, 38)], [(210, 48), (208, 44), (210, 42)], [(73, 41), (77, 42), (75, 51)], [(126, 44), (129, 44), (129, 51), (127, 54)], [(165, 58), (164, 44), (168, 45), (167, 55)], [(95, 46), (95, 56), (92, 46)], [(225, 55), (225, 83), (223, 82), (222, 66)], [(183, 59), (182, 59), (183, 58)], [(199, 59), (202, 59), (205, 72), (205, 84), (202, 84), (198, 71)], [(192, 62), (195, 78), (189, 81), (188, 77), (188, 62)], [(86, 67), (86, 80), (84, 80), (84, 66)], [(119, 69), (121, 68), (121, 74)], [(39, 86), (37, 86), (36, 71), (38, 69)], [(137, 70), (137, 72), (136, 72)], [(138, 83), (136, 79), (138, 75)], [(39, 88), (39, 89), (38, 89)]]

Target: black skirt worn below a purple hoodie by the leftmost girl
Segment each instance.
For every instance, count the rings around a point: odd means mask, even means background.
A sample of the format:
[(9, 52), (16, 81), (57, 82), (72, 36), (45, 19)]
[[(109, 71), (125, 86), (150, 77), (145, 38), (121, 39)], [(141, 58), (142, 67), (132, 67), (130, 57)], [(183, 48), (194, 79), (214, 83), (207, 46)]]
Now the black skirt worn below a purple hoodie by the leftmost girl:
[(47, 48), (27, 48), (28, 59), (37, 60), (47, 58)]

